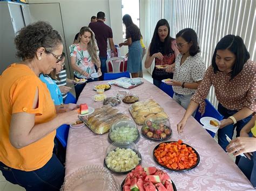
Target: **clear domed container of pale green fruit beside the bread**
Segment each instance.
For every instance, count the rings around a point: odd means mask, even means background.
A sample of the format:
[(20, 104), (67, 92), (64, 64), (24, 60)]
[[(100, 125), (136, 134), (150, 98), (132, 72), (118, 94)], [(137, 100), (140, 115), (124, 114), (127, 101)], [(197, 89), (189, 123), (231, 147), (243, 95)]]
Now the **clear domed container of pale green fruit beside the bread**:
[(115, 121), (110, 128), (109, 142), (129, 144), (137, 143), (139, 140), (139, 131), (137, 125), (131, 119), (119, 119)]

